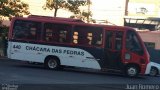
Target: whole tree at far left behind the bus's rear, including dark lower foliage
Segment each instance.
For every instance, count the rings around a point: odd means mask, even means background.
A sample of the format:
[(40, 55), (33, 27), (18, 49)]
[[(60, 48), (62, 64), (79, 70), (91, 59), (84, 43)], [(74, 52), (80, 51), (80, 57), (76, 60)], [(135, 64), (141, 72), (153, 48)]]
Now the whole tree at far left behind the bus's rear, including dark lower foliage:
[(20, 0), (0, 0), (0, 37), (6, 37), (9, 27), (2, 25), (4, 17), (20, 17), (30, 14), (28, 4)]

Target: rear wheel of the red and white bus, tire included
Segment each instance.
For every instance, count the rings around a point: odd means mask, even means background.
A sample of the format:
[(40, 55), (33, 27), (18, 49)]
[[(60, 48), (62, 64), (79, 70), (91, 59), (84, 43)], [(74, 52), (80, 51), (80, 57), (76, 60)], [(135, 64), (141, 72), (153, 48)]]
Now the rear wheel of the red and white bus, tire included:
[(60, 68), (60, 61), (56, 57), (48, 57), (44, 65), (47, 69), (57, 70)]

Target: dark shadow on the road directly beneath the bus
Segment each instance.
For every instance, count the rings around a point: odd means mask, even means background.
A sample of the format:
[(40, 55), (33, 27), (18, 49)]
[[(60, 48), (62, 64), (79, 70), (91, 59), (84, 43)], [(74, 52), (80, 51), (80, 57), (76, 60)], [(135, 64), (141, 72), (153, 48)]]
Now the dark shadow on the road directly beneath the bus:
[[(64, 67), (60, 70), (49, 70), (44, 68), (43, 64), (28, 64), (26, 62), (20, 61), (19, 64), (14, 65), (14, 67), (19, 68), (27, 68), (27, 69), (34, 69), (34, 70), (47, 70), (47, 71), (53, 71), (53, 72), (72, 72), (72, 73), (81, 73), (81, 74), (92, 74), (92, 75), (102, 75), (102, 76), (109, 76), (109, 77), (121, 77), (121, 78), (131, 78), (127, 77), (122, 73), (117, 72), (102, 72), (99, 70), (93, 70), (93, 69), (86, 69), (86, 68), (77, 68), (77, 67)], [(145, 76), (139, 76), (139, 77), (132, 77), (134, 79), (145, 79)]]

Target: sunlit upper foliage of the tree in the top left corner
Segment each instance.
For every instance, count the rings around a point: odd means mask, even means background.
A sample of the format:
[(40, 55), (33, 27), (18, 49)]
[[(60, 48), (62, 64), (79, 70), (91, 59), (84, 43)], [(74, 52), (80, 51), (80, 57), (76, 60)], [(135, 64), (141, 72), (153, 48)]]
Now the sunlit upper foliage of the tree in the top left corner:
[(21, 0), (0, 0), (0, 17), (19, 17), (30, 14), (28, 4)]

